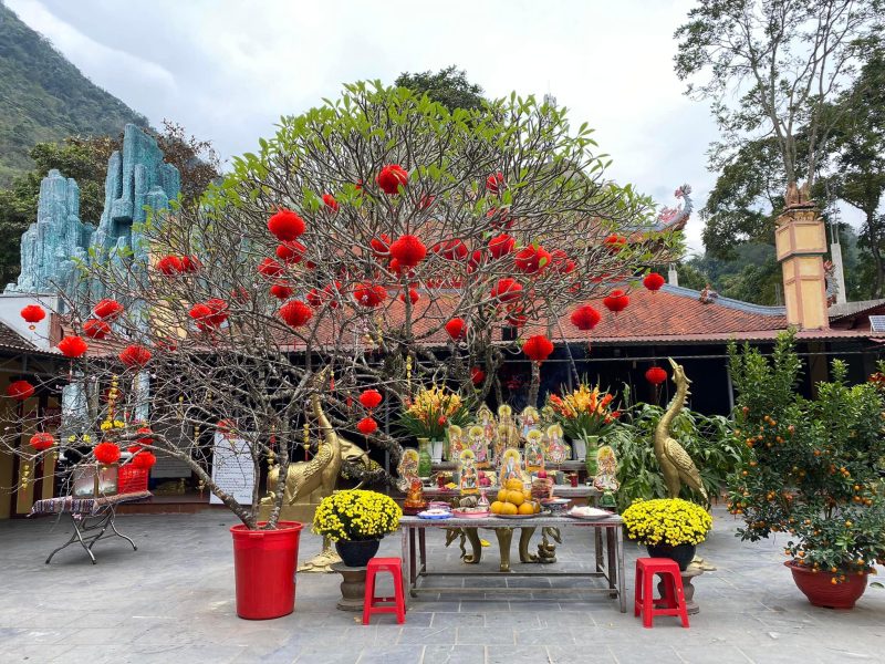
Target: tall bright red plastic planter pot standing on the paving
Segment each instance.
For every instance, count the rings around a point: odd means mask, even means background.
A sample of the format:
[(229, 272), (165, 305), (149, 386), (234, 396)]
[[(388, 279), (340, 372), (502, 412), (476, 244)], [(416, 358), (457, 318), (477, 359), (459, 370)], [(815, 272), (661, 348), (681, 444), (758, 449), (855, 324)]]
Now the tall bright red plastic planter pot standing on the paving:
[(249, 530), (242, 525), (230, 529), (237, 615), (268, 620), (295, 610), (295, 564), (303, 527), (298, 521), (279, 521), (277, 530)]

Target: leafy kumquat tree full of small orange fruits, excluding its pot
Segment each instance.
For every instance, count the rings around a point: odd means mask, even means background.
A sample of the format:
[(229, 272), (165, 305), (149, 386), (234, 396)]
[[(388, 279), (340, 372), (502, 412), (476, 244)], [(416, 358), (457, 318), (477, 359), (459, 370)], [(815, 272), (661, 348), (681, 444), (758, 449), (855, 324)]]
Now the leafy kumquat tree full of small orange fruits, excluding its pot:
[(793, 338), (778, 339), (771, 360), (729, 349), (739, 396), (735, 435), (751, 454), (731, 478), (729, 508), (743, 518), (743, 540), (788, 533), (794, 566), (832, 575), (866, 574), (885, 559), (885, 401), (873, 383), (848, 386), (846, 365), (806, 401), (795, 393), (802, 363)]

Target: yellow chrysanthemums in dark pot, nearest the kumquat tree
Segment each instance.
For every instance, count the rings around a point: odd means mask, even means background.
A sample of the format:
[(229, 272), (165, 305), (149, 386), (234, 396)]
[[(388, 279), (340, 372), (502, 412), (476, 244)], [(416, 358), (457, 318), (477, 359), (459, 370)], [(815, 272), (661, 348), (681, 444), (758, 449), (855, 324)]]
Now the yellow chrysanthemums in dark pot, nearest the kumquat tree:
[(648, 556), (670, 558), (683, 571), (712, 528), (707, 510), (680, 498), (636, 500), (621, 517), (627, 537), (645, 544)]

